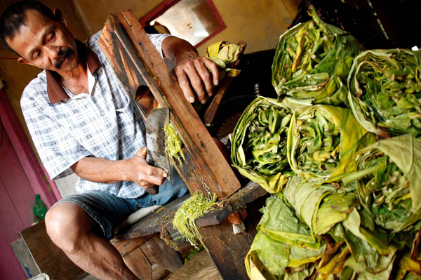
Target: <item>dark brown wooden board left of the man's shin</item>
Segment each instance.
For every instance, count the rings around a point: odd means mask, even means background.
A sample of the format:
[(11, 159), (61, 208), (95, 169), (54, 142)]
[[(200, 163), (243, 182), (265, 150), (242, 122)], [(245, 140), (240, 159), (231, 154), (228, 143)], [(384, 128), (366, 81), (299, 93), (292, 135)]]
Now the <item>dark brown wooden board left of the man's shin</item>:
[(44, 221), (22, 230), (20, 235), (41, 272), (50, 276), (51, 279), (74, 280), (84, 273), (58, 246), (53, 244), (47, 234)]

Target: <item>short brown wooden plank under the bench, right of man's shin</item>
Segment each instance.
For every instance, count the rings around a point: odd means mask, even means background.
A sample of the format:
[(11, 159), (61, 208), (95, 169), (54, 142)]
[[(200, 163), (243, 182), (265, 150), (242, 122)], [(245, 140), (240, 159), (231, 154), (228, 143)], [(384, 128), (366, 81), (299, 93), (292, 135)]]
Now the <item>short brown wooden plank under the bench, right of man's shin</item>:
[(175, 272), (183, 265), (182, 258), (177, 251), (160, 239), (159, 234), (154, 235), (140, 248), (151, 263), (156, 263), (171, 272)]

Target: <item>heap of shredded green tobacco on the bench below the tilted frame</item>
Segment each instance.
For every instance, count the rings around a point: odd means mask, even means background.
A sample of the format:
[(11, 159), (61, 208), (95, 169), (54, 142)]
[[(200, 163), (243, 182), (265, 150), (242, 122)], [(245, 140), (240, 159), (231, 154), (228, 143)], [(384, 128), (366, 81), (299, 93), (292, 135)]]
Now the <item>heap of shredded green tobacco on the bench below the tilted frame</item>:
[(180, 208), (173, 220), (173, 226), (180, 234), (189, 241), (192, 246), (199, 248), (198, 239), (201, 236), (194, 222), (197, 218), (210, 212), (218, 205), (216, 194), (205, 196), (201, 192), (195, 192), (192, 197), (187, 199)]

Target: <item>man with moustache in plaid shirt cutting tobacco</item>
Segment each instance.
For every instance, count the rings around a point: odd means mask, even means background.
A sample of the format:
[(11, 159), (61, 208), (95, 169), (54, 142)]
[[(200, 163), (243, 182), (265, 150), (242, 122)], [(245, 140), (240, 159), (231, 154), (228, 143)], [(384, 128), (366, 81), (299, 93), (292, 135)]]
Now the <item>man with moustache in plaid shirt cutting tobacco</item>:
[[(82, 44), (62, 13), (21, 1), (0, 18), (1, 39), (18, 62), (44, 69), (22, 94), (29, 132), (51, 178), (76, 173), (81, 194), (59, 201), (46, 215), (53, 242), (99, 279), (138, 279), (109, 243), (116, 225), (138, 208), (165, 204), (187, 192), (145, 160), (145, 124), (98, 47), (100, 32)], [(190, 102), (205, 102), (218, 84), (218, 67), (187, 41), (150, 35)], [(210, 72), (209, 72), (210, 69)], [(145, 189), (160, 185), (156, 196)], [(144, 189), (145, 188), (145, 189)]]

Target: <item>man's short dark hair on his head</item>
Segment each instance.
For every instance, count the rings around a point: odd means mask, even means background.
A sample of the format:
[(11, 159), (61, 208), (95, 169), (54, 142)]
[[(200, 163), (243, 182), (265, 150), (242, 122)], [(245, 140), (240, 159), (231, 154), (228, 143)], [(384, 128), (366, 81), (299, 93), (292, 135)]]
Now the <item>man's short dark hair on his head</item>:
[[(39, 1), (25, 0), (8, 6), (0, 17), (0, 39), (4, 46), (10, 51), (13, 51), (13, 53), (16, 52), (7, 44), (6, 38), (13, 40), (16, 34), (19, 33), (20, 27), (25, 24), (25, 12), (29, 10), (37, 11), (41, 15), (57, 21), (51, 8), (48, 8)], [(16, 54), (19, 55), (18, 53)]]

